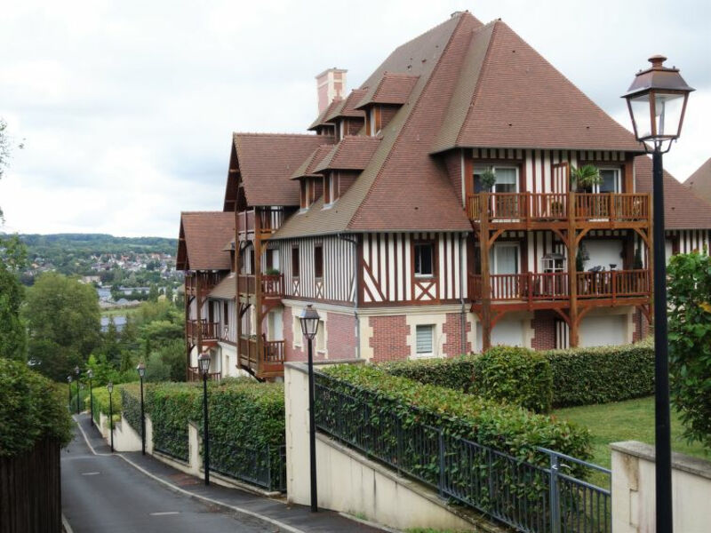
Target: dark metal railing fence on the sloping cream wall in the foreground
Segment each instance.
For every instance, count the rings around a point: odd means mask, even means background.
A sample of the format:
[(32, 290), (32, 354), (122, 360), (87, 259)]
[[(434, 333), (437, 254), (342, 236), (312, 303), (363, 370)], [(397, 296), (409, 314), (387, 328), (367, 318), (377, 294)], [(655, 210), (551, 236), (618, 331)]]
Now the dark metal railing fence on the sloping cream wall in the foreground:
[[(349, 394), (350, 393), (350, 394)], [(316, 427), (364, 454), (526, 533), (610, 533), (610, 491), (575, 477), (593, 468), (548, 449), (550, 465), (532, 465), (417, 421), (414, 408), (374, 413), (375, 398), (334, 378), (316, 381)], [(359, 397), (360, 396), (360, 397)], [(362, 398), (367, 398), (363, 400)]]

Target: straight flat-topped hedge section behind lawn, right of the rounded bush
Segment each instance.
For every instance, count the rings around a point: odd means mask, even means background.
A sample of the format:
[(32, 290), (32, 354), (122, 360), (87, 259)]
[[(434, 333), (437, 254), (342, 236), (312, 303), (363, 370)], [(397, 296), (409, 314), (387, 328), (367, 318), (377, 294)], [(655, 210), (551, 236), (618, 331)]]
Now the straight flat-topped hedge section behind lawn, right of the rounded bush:
[(545, 352), (553, 374), (554, 407), (621, 402), (654, 394), (651, 339), (624, 346)]

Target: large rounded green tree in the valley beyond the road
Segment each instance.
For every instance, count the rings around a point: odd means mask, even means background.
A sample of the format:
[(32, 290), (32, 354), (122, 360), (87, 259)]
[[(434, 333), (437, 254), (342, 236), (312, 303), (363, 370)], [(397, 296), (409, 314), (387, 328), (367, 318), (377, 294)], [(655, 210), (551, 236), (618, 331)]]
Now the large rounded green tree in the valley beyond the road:
[(29, 361), (55, 380), (64, 380), (99, 346), (99, 297), (91, 285), (62, 274), (44, 273), (28, 290)]

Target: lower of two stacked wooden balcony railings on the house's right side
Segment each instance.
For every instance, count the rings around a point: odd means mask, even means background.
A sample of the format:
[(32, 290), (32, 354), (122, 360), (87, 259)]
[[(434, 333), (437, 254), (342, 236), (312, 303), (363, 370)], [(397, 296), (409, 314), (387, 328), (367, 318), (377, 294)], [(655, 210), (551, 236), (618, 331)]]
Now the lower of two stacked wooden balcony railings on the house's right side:
[[(491, 299), (497, 301), (559, 301), (570, 298), (567, 272), (491, 274)], [(629, 298), (650, 294), (649, 270), (579, 272), (578, 298)], [(483, 298), (481, 275), (469, 276), (469, 295)]]

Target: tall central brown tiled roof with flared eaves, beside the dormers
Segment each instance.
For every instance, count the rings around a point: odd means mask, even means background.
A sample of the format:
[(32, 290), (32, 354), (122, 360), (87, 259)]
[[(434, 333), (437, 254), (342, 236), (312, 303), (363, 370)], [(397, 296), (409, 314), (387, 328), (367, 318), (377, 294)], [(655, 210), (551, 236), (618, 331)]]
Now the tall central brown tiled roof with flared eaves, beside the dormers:
[[(363, 83), (386, 72), (418, 76), (406, 103), (356, 182), (332, 209), (323, 197), (288, 219), (273, 238), (359, 231), (471, 231), (442, 165), (427, 155), (439, 131), (464, 52), (481, 22), (460, 13), (395, 49)], [(436, 73), (436, 76), (433, 75)]]

